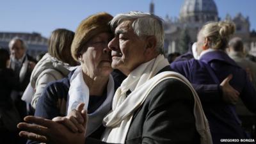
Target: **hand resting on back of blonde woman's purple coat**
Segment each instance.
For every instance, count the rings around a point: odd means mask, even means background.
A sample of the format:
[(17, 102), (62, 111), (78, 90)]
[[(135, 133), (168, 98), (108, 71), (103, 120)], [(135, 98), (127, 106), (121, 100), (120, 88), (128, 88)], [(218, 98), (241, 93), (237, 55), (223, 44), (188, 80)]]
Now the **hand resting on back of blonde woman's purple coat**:
[(221, 82), (220, 86), (222, 86), (223, 100), (230, 104), (236, 104), (240, 93), (230, 86), (229, 81), (232, 77), (232, 74), (228, 75), (228, 77)]

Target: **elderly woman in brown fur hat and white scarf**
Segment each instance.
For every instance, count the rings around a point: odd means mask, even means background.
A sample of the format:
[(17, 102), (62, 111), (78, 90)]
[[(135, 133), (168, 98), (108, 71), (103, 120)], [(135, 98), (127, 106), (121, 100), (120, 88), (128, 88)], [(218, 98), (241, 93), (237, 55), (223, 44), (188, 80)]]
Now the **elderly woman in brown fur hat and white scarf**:
[(47, 119), (65, 116), (84, 102), (89, 117), (87, 136), (101, 135), (102, 119), (109, 112), (115, 93), (108, 49), (113, 37), (108, 22), (112, 18), (108, 13), (98, 13), (81, 22), (71, 47), (72, 57), (81, 65), (68, 77), (46, 87), (36, 104), (35, 116)]

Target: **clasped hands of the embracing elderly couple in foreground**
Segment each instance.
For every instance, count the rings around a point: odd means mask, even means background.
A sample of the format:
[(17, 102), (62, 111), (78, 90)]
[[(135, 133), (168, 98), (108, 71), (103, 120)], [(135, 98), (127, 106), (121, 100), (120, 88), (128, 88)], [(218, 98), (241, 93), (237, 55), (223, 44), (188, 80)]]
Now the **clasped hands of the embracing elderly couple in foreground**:
[(22, 129), (19, 135), (41, 143), (84, 144), (88, 116), (83, 107), (84, 104), (81, 103), (68, 116), (58, 116), (52, 120), (26, 116), (25, 122), (17, 125)]

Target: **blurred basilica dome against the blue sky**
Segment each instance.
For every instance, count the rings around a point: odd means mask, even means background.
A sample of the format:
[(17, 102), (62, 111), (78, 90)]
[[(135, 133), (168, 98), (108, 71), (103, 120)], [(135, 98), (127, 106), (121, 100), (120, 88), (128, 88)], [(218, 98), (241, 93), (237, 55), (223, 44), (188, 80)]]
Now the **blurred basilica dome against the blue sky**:
[(180, 10), (182, 22), (207, 22), (218, 20), (214, 0), (185, 0)]

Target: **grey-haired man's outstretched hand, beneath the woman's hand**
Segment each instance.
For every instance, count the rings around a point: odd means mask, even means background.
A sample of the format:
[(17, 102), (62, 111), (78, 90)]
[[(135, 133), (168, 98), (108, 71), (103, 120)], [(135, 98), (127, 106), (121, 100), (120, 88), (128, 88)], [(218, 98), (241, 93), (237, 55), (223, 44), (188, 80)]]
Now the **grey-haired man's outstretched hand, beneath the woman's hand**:
[(33, 123), (28, 124), (26, 122), (21, 122), (17, 125), (19, 129), (24, 130), (19, 133), (19, 135), (24, 138), (39, 141), (41, 143), (84, 144), (84, 132), (74, 133), (63, 124), (36, 116), (26, 116), (24, 120)]

